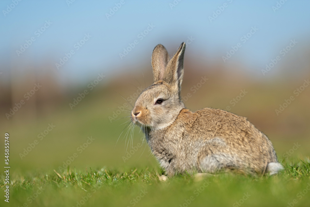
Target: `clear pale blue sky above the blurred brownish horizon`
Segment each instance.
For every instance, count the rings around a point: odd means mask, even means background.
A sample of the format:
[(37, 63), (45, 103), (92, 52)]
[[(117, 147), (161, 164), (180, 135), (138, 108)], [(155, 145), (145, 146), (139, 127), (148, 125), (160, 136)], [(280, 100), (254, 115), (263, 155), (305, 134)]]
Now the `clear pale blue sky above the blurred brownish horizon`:
[[(264, 67), (281, 48), (289, 45), (291, 39), (300, 42), (296, 47), (301, 47), (308, 43), (310, 34), (310, 1), (306, 0), (282, 0), (284, 4), (276, 11), (272, 6), (276, 7), (280, 1), (273, 0), (124, 0), (123, 4), (120, 0), (75, 0), (69, 6), (66, 0), (22, 0), (4, 14), (3, 10), (7, 11), (7, 5), (12, 2), (14, 0), (0, 2), (1, 62), (31, 59), (34, 62), (49, 60), (54, 64), (73, 50), (74, 54), (60, 70), (79, 79), (99, 71), (116, 73), (118, 71), (113, 71), (116, 68), (126, 70), (129, 65), (148, 63), (158, 43), (165, 45), (172, 55), (188, 37), (194, 40), (188, 45), (187, 53), (200, 52), (208, 59), (221, 60), (226, 51), (241, 42), (240, 38), (250, 32), (251, 27), (258, 30), (229, 61), (242, 60), (255, 67)], [(171, 8), (173, 2), (178, 3)], [(115, 4), (121, 7), (108, 19), (106, 13)], [(217, 11), (219, 7), (224, 10)], [(209, 16), (216, 11), (219, 15), (210, 22)], [(35, 31), (46, 21), (51, 25), (37, 37)], [(139, 39), (137, 35), (149, 24), (154, 25), (153, 29)], [(91, 37), (77, 50), (74, 45), (85, 34)], [(18, 56), (16, 50), (32, 37), (35, 41)], [(134, 40), (138, 40), (138, 44), (121, 59), (119, 53)]]

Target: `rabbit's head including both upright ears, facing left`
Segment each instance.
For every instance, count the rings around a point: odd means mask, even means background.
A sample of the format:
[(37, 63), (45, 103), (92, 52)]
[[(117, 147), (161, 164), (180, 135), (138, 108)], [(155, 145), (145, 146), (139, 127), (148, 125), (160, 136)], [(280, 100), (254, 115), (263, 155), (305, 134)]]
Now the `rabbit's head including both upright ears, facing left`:
[(154, 83), (141, 92), (131, 111), (131, 120), (140, 126), (162, 129), (172, 124), (184, 108), (181, 101), (185, 43), (169, 60), (164, 46), (157, 45), (152, 54)]

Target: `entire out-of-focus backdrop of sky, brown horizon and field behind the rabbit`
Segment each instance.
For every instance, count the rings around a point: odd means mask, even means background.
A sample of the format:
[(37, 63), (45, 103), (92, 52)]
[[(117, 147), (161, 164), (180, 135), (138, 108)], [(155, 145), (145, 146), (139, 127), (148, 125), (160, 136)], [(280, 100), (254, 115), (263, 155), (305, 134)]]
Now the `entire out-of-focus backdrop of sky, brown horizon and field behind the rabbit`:
[(1, 1), (0, 121), (2, 137), (10, 134), (14, 172), (60, 171), (66, 162), (78, 169), (158, 168), (126, 116), (152, 84), (159, 43), (170, 56), (187, 43), (181, 95), (189, 109), (246, 116), (281, 161), (304, 159), (309, 6), (306, 0)]

